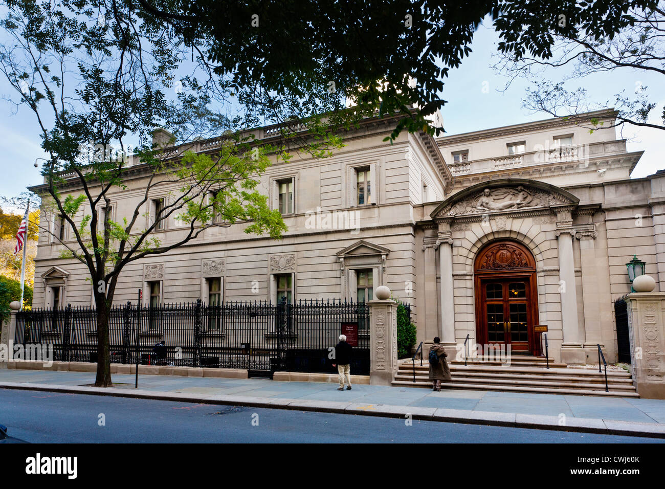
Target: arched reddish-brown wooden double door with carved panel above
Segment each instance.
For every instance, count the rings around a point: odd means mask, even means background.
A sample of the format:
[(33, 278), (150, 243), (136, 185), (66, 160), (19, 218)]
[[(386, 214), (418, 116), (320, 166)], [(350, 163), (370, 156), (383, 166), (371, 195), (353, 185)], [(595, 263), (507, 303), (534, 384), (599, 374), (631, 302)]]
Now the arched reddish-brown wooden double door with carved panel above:
[[(481, 248), (473, 265), (478, 343), (540, 355), (535, 259), (524, 245), (501, 240)], [(507, 351), (507, 350), (506, 350)]]

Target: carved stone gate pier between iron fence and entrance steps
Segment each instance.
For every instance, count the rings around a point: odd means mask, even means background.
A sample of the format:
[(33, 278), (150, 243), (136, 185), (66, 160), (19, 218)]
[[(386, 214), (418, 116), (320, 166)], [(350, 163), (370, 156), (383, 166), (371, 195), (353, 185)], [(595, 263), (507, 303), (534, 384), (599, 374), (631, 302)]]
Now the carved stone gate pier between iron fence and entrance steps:
[(397, 303), (392, 299), (374, 299), (367, 304), (370, 308), (370, 384), (390, 385), (397, 374)]

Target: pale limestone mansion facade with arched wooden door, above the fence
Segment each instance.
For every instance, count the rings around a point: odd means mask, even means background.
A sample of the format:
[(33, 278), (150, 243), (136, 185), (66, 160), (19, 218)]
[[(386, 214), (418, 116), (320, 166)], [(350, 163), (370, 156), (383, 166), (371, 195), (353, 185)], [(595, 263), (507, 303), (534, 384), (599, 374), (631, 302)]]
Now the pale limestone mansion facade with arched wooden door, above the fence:
[[(616, 114), (587, 116), (607, 126)], [(242, 223), (210, 228), (126, 267), (114, 300), (136, 301), (142, 289), (145, 305), (356, 301), (387, 285), (412, 305), (418, 343), (439, 336), (454, 350), (468, 335), (539, 355), (534, 328), (547, 325), (555, 359), (586, 363), (600, 344), (616, 361), (612, 301), (630, 291), (625, 263), (638, 255), (656, 291), (665, 290), (665, 174), (631, 179), (642, 152), (627, 152), (614, 130), (589, 133), (571, 120), (401, 134), (388, 144), (394, 122), (364, 120), (331, 158), (298, 154), (265, 172), (262, 192), (289, 227), (282, 240), (247, 235)], [(270, 142), (277, 130), (259, 128), (255, 137)], [(215, 144), (200, 141), (196, 150)], [(134, 209), (146, 178), (137, 165), (128, 188), (111, 196), (112, 219)], [(150, 196), (146, 219), (170, 190)], [(43, 218), (72, 241), (58, 216)], [(159, 238), (168, 244), (184, 232), (169, 220)], [(61, 259), (61, 248), (40, 236), (35, 307), (92, 304), (86, 269)]]

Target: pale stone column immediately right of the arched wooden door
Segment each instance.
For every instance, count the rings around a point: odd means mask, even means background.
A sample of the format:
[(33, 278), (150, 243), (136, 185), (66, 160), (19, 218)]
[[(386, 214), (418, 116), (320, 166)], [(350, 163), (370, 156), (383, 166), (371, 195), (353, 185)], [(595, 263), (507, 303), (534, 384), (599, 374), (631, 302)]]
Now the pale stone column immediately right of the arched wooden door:
[(557, 213), (557, 231), (559, 245), (559, 291), (561, 292), (561, 323), (563, 343), (561, 361), (571, 364), (587, 363), (580, 337), (577, 317), (577, 287), (575, 286), (575, 259), (573, 257), (573, 218), (571, 210), (566, 208)]

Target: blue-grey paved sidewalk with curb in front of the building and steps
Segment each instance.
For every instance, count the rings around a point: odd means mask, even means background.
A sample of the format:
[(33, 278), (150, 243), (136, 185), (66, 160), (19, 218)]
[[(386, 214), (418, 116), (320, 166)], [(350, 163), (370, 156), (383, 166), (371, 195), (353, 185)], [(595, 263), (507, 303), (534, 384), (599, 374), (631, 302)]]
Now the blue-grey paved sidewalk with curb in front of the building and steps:
[(118, 385), (112, 388), (82, 387), (94, 383), (94, 373), (0, 370), (0, 389), (400, 418), (410, 415), (418, 420), (665, 438), (665, 400), (462, 389), (434, 392), (378, 385), (354, 385), (352, 391), (340, 392), (336, 383), (165, 375), (140, 375), (138, 389), (134, 389), (134, 375), (116, 374), (113, 381)]

